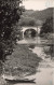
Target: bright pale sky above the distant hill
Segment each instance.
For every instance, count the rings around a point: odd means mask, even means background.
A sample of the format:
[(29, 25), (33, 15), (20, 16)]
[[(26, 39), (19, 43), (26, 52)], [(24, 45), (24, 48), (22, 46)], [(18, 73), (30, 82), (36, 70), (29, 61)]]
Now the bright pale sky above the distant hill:
[(54, 0), (23, 0), (23, 5), (27, 10), (44, 10), (54, 6)]

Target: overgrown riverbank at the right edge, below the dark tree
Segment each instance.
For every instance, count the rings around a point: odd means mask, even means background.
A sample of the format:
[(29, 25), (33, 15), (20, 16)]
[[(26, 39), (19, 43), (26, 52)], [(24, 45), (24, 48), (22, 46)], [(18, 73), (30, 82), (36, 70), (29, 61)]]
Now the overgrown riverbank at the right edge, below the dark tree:
[(45, 54), (51, 55), (51, 58), (54, 59), (54, 33), (42, 33), (40, 37), (48, 40), (46, 44), (50, 44), (50, 46), (44, 46), (44, 52)]

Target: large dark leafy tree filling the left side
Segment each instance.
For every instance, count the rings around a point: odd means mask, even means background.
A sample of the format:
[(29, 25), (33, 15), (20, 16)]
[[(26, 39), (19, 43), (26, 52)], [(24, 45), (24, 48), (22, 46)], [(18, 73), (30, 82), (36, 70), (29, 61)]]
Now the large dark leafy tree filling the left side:
[(0, 0), (0, 60), (5, 59), (5, 49), (12, 47), (14, 32), (22, 15), (22, 0)]

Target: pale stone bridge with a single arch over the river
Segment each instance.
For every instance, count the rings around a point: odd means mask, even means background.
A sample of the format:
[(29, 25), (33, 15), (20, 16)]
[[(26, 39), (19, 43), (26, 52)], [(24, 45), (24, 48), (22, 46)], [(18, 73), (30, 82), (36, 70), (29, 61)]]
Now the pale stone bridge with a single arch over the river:
[(26, 31), (29, 31), (29, 33), (30, 33), (30, 30), (35, 30), (35, 32), (36, 33), (40, 33), (40, 28), (41, 28), (41, 26), (37, 26), (37, 27), (22, 27), (22, 32), (23, 32), (23, 39), (25, 38), (25, 32)]

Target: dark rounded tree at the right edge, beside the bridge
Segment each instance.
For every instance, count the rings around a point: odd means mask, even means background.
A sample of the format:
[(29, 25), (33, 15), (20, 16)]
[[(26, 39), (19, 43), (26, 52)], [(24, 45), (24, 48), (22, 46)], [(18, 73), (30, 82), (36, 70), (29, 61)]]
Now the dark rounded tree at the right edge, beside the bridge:
[(48, 18), (41, 27), (41, 34), (48, 32), (53, 32), (53, 17)]

